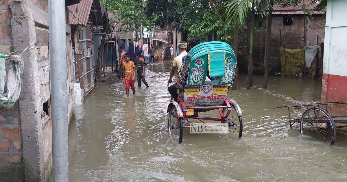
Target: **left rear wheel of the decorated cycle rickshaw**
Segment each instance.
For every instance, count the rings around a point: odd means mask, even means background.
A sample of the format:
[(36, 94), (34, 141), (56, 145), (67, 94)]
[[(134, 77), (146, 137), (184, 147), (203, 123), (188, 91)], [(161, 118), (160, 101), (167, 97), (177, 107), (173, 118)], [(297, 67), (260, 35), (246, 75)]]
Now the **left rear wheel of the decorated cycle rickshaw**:
[(178, 144), (182, 142), (183, 128), (181, 127), (180, 119), (177, 117), (177, 111), (175, 106), (171, 107), (169, 112), (168, 131), (170, 137), (178, 140)]

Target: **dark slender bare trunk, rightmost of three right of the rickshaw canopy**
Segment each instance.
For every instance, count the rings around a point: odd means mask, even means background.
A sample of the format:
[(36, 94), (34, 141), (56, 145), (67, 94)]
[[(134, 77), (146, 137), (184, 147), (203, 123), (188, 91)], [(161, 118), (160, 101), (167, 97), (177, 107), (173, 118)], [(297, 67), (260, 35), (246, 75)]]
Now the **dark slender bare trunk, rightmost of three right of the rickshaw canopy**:
[(265, 52), (264, 52), (264, 86), (268, 88), (268, 76), (269, 76), (269, 58), (270, 58), (270, 44), (271, 44), (271, 24), (272, 24), (272, 12), (268, 18), (268, 33), (265, 35)]

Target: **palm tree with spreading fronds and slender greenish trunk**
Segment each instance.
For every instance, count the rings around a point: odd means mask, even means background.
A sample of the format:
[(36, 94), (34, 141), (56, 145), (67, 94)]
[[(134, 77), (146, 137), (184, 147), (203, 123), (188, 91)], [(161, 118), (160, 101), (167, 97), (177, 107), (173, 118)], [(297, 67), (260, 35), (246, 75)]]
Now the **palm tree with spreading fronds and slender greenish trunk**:
[[(254, 16), (257, 14), (260, 17), (268, 17), (269, 12), (273, 9), (273, 5), (278, 5), (280, 2), (281, 0), (228, 0), (225, 3), (231, 18), (238, 24), (244, 24), (247, 16), (249, 16), (249, 55), (246, 89), (250, 89), (253, 85)], [(271, 32), (271, 29), (269, 31)]]

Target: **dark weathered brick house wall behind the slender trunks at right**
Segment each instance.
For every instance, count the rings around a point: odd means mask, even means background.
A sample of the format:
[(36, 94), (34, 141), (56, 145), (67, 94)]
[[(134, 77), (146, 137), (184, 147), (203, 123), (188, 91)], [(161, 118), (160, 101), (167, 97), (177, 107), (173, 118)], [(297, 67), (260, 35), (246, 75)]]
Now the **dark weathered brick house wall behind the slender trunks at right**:
[[(291, 15), (293, 25), (283, 25), (283, 17), (286, 15), (274, 15), (272, 19), (271, 44), (269, 56), (270, 74), (274, 71), (281, 70), (280, 63), (280, 30), (281, 45), (287, 49), (301, 49), (305, 45), (305, 24), (304, 15)], [(256, 17), (255, 26), (266, 28), (266, 21)], [(313, 15), (308, 23), (306, 33), (306, 45), (316, 45), (317, 36), (319, 36), (319, 45), (324, 42), (325, 21), (321, 15)], [(253, 66), (255, 74), (263, 74), (264, 72), (264, 35), (263, 33), (254, 34), (253, 42)], [(239, 43), (238, 66), (241, 72), (247, 72), (248, 65), (248, 43)]]

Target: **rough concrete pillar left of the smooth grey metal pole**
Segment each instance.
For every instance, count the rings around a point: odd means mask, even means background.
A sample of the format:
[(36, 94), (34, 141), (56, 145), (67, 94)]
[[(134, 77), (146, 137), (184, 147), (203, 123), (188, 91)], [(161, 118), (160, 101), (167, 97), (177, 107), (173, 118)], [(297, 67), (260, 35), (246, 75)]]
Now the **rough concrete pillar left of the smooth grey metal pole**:
[[(33, 5), (30, 0), (9, 2), (14, 51), (24, 50), (36, 41)], [(19, 97), (25, 181), (41, 182), (44, 173), (44, 151), (41, 122), (41, 98), (36, 49), (23, 53), (24, 80)]]

